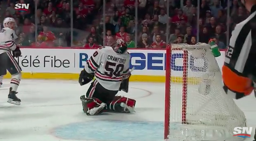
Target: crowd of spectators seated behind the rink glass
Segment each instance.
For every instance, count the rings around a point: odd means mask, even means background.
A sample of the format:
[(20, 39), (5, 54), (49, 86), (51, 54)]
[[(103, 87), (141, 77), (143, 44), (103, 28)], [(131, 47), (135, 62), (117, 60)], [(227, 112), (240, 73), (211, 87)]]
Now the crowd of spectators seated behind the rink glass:
[[(107, 0), (103, 8), (103, 0), (6, 0), (1, 19), (16, 19), (20, 46), (98, 48), (122, 38), (129, 48), (165, 48), (168, 43), (196, 44), (199, 24), (199, 42), (215, 38), (225, 49), (235, 25), (249, 15), (238, 0), (230, 0), (230, 7), (227, 1), (201, 0), (197, 5), (197, 0), (183, 0), (181, 6), (181, 0), (169, 0), (167, 8), (166, 0)], [(16, 3), (30, 4), (29, 11), (15, 10)]]

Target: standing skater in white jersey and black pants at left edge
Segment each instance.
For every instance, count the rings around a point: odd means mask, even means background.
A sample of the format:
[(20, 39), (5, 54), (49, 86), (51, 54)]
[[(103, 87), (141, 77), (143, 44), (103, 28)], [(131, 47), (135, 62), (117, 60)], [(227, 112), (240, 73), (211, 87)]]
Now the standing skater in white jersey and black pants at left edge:
[(16, 27), (15, 19), (10, 17), (5, 18), (3, 25), (4, 28), (0, 30), (0, 76), (6, 74), (6, 69), (10, 72), (12, 79), (7, 102), (20, 105), (21, 100), (16, 94), (21, 80), (21, 67), (14, 57), (21, 56), (21, 51), (19, 50), (19, 46), (16, 46), (14, 42), (18, 38), (14, 31)]

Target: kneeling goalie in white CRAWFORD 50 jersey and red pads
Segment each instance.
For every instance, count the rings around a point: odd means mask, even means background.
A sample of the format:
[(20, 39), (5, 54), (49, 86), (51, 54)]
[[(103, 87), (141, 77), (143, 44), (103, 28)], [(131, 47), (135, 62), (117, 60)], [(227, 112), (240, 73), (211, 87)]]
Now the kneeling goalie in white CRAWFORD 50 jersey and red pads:
[(79, 84), (82, 86), (90, 82), (94, 76), (86, 97), (80, 97), (83, 112), (87, 115), (96, 115), (106, 111), (134, 112), (135, 100), (127, 97), (116, 96), (119, 89), (128, 92), (130, 78), (130, 54), (122, 39), (117, 40), (114, 48), (103, 46), (87, 61), (85, 68), (79, 76)]

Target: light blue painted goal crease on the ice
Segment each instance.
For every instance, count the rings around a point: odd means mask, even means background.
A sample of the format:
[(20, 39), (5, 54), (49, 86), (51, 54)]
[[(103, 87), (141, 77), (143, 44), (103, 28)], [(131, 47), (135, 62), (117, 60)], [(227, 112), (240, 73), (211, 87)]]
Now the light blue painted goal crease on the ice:
[(61, 139), (94, 141), (162, 141), (163, 122), (100, 120), (71, 123), (55, 128)]

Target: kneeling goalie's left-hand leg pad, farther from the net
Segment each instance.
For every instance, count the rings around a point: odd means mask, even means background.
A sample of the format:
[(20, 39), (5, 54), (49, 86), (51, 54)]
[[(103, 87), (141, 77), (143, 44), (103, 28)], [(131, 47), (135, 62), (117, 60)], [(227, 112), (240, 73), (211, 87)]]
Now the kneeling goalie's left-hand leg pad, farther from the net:
[(85, 112), (88, 116), (101, 113), (102, 109), (104, 109), (104, 107), (106, 106), (106, 104), (99, 99), (85, 97), (85, 95), (82, 95), (80, 97), (80, 100), (82, 101), (83, 112)]

